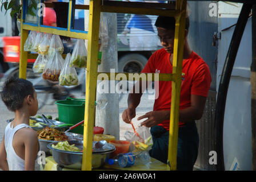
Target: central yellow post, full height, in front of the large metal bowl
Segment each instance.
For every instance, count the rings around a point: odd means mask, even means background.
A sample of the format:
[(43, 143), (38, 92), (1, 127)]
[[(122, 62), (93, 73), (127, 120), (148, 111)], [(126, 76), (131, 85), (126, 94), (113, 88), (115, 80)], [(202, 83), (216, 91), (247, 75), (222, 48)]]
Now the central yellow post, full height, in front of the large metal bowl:
[(95, 98), (97, 88), (97, 60), (99, 40), (99, 18), (101, 16), (101, 1), (90, 0), (89, 6), (89, 31), (86, 75), (86, 102), (85, 122), (83, 129), (83, 160), (82, 170), (91, 170), (93, 127), (95, 121)]

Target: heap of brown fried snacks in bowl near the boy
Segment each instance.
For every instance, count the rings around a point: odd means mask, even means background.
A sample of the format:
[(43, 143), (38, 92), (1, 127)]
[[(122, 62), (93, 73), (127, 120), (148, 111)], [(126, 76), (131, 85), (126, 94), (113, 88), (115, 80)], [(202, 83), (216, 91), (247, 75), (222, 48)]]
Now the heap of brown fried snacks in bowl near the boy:
[(43, 140), (54, 140), (54, 141), (65, 141), (67, 140), (67, 135), (63, 131), (59, 131), (48, 126), (45, 129), (38, 131), (38, 138)]

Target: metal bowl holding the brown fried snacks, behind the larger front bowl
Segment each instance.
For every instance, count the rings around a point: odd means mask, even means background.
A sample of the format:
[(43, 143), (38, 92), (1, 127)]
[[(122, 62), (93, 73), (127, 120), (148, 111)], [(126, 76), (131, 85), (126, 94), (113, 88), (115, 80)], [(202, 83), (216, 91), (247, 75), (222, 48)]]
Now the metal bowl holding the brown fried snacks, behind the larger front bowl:
[[(67, 135), (67, 140), (83, 140), (83, 135), (77, 134), (77, 133), (66, 133)], [(60, 141), (54, 141), (54, 140), (43, 140), (43, 139), (38, 139), (39, 141), (39, 146), (41, 151), (45, 151), (46, 155), (51, 155), (51, 151), (49, 148), (47, 148), (47, 144), (49, 143), (58, 143)]]

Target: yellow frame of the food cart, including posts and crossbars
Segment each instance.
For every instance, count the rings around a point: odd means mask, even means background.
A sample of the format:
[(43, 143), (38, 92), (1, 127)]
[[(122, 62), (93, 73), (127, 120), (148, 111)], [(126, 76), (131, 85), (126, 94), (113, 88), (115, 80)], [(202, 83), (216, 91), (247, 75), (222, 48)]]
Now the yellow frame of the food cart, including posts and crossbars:
[[(22, 20), (21, 20), (21, 50), (19, 60), (19, 77), (26, 79), (27, 57), (23, 47), (28, 36), (29, 30), (46, 32), (69, 36), (71, 38), (87, 39), (87, 78), (86, 78), (86, 105), (85, 105), (85, 125), (83, 138), (83, 159), (82, 170), (91, 170), (92, 146), (93, 146), (93, 127), (95, 122), (95, 98), (97, 89), (97, 71), (98, 64), (98, 40), (99, 40), (99, 19), (101, 12), (109, 13), (129, 13), (129, 14), (146, 14), (146, 15), (164, 15), (174, 16), (175, 38), (174, 38), (174, 56), (173, 56), (173, 73), (159, 74), (159, 81), (172, 81), (171, 91), (171, 112), (170, 112), (170, 131), (169, 131), (169, 152), (166, 165), (167, 170), (177, 168), (177, 143), (178, 143), (178, 122), (179, 122), (179, 97), (181, 92), (181, 74), (183, 60), (183, 46), (185, 36), (185, 19), (186, 19), (186, 0), (177, 0), (175, 9), (165, 9), (161, 3), (139, 3), (139, 2), (120, 2), (120, 1), (101, 1), (90, 0), (90, 5), (75, 5), (72, 0), (69, 1), (69, 16), (67, 28), (49, 27), (40, 24), (38, 17), (37, 24), (25, 22), (25, 13), (27, 0), (22, 3)], [(41, 1), (40, 1), (41, 2)], [(133, 6), (131, 6), (133, 5)], [(165, 4), (166, 5), (166, 4)], [(71, 30), (71, 10), (72, 9), (89, 9), (89, 31), (78, 32)], [(26, 11), (25, 11), (26, 12)], [(107, 73), (109, 74), (109, 73)], [(158, 74), (158, 73), (155, 73)], [(126, 74), (129, 80), (129, 74)]]

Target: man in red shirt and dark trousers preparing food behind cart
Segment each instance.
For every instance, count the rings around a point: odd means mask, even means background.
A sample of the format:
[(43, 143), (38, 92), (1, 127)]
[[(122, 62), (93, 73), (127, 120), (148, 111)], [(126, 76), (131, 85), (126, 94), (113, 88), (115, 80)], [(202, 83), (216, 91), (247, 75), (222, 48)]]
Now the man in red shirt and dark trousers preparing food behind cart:
[[(157, 27), (158, 36), (163, 48), (153, 53), (142, 73), (172, 73), (175, 18), (159, 16), (155, 26)], [(177, 151), (178, 170), (193, 170), (195, 160), (197, 160), (199, 137), (195, 120), (202, 117), (211, 84), (208, 65), (189, 47), (187, 42), (188, 30), (189, 18), (186, 19), (182, 63)], [(150, 132), (153, 137), (153, 146), (149, 151), (150, 156), (163, 163), (167, 163), (171, 81), (159, 81), (159, 87), (155, 88), (155, 90), (157, 98), (155, 98), (153, 111), (142, 115), (138, 120), (147, 118), (141, 125), (151, 127)], [(126, 123), (130, 123), (131, 119), (135, 117), (135, 109), (141, 100), (142, 91), (129, 94), (128, 108), (122, 114), (123, 121)]]

